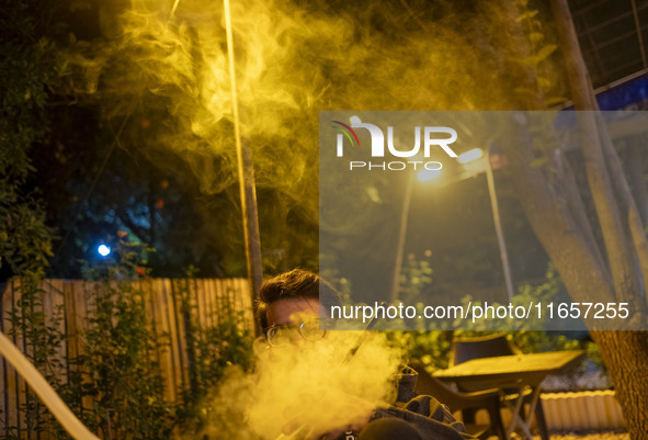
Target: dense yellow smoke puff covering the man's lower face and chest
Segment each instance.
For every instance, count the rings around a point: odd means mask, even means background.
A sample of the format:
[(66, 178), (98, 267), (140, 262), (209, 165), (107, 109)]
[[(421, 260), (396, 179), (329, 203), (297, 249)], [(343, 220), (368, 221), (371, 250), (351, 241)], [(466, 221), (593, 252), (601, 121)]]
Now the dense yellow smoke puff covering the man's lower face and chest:
[(254, 373), (231, 371), (223, 381), (205, 433), (272, 440), (295, 432), (321, 435), (393, 403), (400, 350), (384, 334), (372, 332), (344, 362), (359, 337), (357, 331), (330, 331), (317, 342), (272, 348), (259, 342)]

